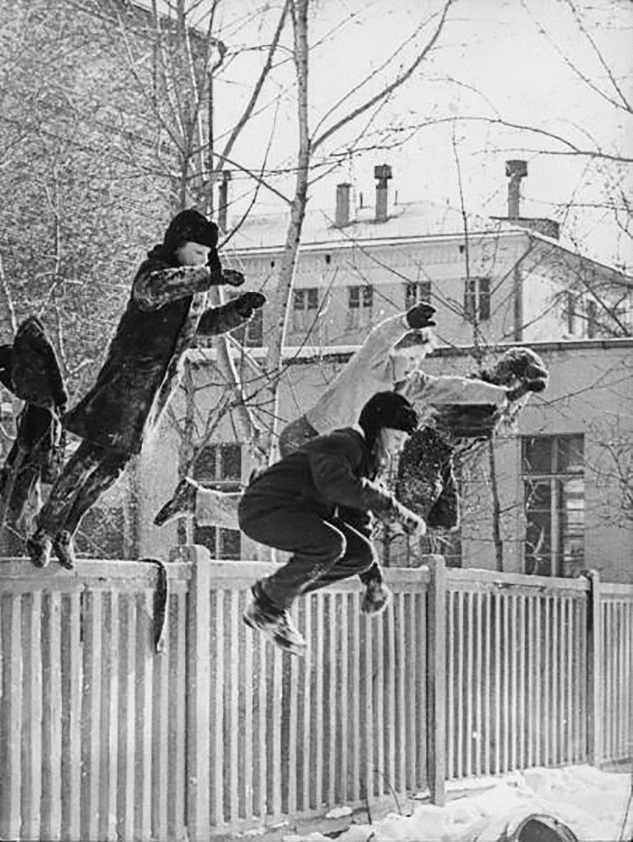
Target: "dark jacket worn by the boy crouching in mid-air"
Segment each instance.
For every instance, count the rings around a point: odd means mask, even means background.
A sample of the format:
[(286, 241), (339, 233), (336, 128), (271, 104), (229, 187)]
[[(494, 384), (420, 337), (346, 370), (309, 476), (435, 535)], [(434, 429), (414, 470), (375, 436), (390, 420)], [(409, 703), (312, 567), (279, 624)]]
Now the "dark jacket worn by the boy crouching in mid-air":
[(342, 518), (369, 535), (370, 512), (396, 520), (402, 510), (374, 482), (376, 469), (364, 435), (356, 429), (318, 436), (249, 483), (240, 502), (240, 525), (277, 509), (308, 509), (325, 520)]

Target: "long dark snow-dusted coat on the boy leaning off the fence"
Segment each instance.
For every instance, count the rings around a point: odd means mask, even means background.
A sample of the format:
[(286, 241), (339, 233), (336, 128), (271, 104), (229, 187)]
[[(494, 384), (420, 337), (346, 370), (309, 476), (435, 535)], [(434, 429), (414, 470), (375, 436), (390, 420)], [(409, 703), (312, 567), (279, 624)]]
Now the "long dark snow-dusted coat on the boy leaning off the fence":
[(196, 333), (214, 336), (248, 320), (238, 301), (207, 308), (206, 290), (219, 280), (207, 266), (180, 266), (164, 246), (153, 248), (97, 381), (66, 414), (66, 429), (123, 455), (138, 453), (145, 429), (156, 426), (178, 385), (182, 354)]

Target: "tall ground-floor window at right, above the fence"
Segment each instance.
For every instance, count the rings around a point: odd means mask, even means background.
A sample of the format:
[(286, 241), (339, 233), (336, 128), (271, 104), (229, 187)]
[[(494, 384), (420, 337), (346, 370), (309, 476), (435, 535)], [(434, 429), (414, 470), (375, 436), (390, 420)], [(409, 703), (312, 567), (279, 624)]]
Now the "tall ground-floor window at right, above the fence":
[(584, 567), (582, 435), (524, 436), (525, 573), (574, 576)]

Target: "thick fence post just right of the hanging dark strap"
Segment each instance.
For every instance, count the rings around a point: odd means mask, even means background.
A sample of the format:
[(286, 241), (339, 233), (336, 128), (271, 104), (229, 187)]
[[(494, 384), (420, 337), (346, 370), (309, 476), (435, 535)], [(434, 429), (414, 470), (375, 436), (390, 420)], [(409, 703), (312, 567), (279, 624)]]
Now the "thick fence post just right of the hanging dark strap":
[(191, 563), (187, 611), (186, 823), (190, 842), (210, 834), (210, 553), (181, 546), (178, 560)]

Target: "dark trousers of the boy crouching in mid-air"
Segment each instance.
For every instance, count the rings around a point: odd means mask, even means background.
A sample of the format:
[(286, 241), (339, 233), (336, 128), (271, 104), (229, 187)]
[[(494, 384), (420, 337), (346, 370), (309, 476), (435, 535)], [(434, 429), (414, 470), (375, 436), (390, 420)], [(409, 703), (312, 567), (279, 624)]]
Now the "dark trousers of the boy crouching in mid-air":
[(326, 520), (298, 506), (262, 513), (248, 496), (242, 497), (238, 515), (240, 528), (253, 541), (293, 553), (260, 583), (274, 608), (285, 610), (300, 594), (357, 574), (364, 584), (382, 578), (370, 539), (344, 520)]

